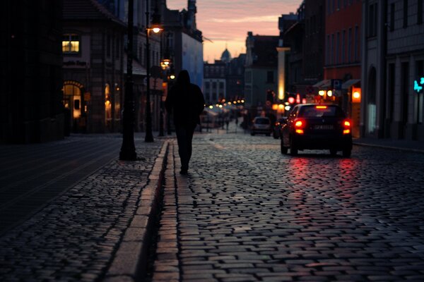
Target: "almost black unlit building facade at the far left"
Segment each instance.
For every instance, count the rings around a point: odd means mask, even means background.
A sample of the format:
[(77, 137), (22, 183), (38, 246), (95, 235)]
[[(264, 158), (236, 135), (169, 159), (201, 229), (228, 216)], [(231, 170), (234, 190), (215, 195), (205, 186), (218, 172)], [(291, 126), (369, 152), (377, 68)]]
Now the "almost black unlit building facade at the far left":
[(0, 142), (64, 138), (61, 1), (5, 1), (1, 9)]

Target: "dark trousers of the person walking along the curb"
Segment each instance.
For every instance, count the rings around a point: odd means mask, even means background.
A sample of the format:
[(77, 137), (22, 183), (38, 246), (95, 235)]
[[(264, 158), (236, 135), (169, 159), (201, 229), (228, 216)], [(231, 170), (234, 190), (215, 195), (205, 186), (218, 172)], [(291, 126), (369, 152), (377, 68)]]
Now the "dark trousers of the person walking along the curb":
[(189, 161), (192, 157), (192, 140), (194, 125), (175, 125), (175, 133), (177, 133), (177, 142), (178, 142), (178, 154), (179, 159), (181, 159), (181, 169), (189, 169)]

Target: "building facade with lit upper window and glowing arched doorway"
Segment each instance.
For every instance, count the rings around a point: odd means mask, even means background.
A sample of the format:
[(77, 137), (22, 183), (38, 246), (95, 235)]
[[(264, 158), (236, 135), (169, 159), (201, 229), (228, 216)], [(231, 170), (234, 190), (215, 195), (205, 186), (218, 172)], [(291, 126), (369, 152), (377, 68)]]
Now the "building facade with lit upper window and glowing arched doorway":
[(120, 130), (125, 25), (94, 0), (64, 0), (64, 106), (71, 132)]

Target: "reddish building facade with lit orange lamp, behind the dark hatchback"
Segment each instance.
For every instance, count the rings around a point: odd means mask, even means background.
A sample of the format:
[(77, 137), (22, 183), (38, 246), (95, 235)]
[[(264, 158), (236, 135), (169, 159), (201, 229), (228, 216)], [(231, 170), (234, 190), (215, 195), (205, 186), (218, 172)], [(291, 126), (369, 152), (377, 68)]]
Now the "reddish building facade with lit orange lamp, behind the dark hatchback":
[(342, 106), (353, 121), (353, 137), (360, 135), (361, 16), (360, 1), (327, 2), (324, 83), (317, 96)]

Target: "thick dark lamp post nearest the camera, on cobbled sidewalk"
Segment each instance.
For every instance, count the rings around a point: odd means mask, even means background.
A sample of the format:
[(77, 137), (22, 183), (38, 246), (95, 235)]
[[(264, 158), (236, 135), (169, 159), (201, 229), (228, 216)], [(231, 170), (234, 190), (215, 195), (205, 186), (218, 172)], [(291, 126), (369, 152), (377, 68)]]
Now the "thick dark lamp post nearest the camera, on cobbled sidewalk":
[(127, 35), (127, 59), (124, 96), (124, 124), (122, 134), (122, 147), (119, 159), (123, 161), (135, 161), (137, 159), (136, 147), (134, 146), (134, 94), (132, 75), (133, 35), (134, 35), (134, 0), (128, 1), (128, 35)]

